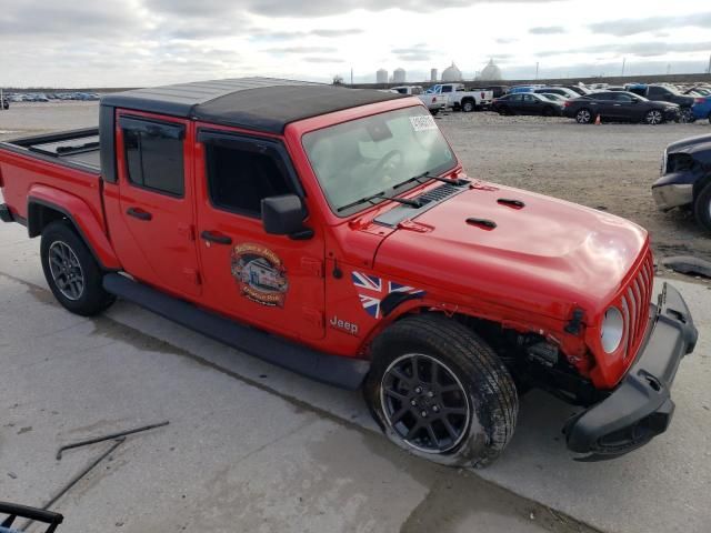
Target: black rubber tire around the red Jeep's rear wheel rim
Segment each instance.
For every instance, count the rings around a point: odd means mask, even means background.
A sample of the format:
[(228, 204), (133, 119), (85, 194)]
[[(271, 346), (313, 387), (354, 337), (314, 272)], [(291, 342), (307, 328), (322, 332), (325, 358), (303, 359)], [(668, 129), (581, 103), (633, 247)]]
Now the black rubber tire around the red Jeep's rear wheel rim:
[[(62, 292), (56, 275), (52, 273), (52, 268), (57, 271), (58, 265), (54, 262), (53, 266), (50, 266), (50, 259), (57, 260), (57, 252), (51, 251), (54, 248), (66, 251), (63, 247), (71, 251), (72, 259), (77, 260), (80, 268), (80, 270), (74, 269), (76, 272), (81, 274), (82, 279), (82, 289), (77, 294), (77, 298), (69, 298)], [(99, 314), (116, 301), (114, 295), (103, 290), (101, 266), (69, 221), (58, 220), (44, 228), (40, 245), (40, 258), (44, 278), (52, 294), (68, 311), (82, 316), (92, 316)]]

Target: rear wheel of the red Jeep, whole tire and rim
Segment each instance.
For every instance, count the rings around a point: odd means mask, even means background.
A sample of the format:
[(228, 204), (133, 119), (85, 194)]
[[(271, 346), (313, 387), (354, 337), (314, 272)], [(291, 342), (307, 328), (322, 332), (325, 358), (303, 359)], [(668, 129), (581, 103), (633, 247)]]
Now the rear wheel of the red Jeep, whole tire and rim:
[(50, 290), (72, 313), (90, 316), (116, 301), (103, 290), (103, 272), (70, 222), (58, 220), (44, 228), (40, 257)]

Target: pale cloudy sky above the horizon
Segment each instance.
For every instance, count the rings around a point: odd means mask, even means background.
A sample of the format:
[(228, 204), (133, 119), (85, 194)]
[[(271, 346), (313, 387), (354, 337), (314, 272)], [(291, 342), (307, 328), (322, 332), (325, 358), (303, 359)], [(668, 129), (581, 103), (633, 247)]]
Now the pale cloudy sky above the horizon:
[(493, 58), (509, 79), (702, 72), (708, 0), (2, 0), (0, 86), (240, 76), (408, 80)]

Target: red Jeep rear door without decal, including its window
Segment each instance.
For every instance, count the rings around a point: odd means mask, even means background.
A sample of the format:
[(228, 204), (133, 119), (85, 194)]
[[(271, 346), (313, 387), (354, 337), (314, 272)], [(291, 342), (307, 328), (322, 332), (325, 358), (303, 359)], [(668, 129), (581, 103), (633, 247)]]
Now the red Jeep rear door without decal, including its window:
[(126, 270), (162, 289), (199, 295), (189, 123), (120, 112), (116, 134), (121, 224), (112, 239)]

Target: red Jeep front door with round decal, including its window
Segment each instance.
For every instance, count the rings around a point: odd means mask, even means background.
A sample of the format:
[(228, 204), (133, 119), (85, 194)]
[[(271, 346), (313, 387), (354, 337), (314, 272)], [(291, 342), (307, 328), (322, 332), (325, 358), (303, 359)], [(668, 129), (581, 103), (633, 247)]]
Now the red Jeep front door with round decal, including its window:
[(268, 234), (261, 200), (301, 194), (280, 141), (199, 127), (198, 239), (204, 303), (236, 319), (303, 339), (324, 334), (323, 234)]

